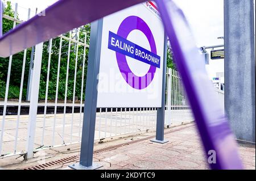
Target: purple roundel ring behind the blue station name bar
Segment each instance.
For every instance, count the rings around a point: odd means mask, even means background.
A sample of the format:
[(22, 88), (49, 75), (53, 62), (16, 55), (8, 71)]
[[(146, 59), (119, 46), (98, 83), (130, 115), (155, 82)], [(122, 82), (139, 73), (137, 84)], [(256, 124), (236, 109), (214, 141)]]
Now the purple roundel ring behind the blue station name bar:
[[(152, 35), (152, 32), (148, 27), (147, 23), (138, 16), (129, 16), (125, 20), (123, 20), (118, 28), (117, 35), (123, 37), (124, 39), (127, 39), (130, 32), (134, 30), (139, 30), (144, 33), (150, 44), (151, 52), (157, 54), (154, 36)], [(138, 77), (129, 68), (125, 54), (118, 52), (115, 52), (115, 54), (117, 57), (119, 70), (121, 71), (121, 74), (125, 81), (134, 89), (146, 89), (146, 87), (148, 87), (154, 79), (156, 67), (151, 65), (146, 75)]]

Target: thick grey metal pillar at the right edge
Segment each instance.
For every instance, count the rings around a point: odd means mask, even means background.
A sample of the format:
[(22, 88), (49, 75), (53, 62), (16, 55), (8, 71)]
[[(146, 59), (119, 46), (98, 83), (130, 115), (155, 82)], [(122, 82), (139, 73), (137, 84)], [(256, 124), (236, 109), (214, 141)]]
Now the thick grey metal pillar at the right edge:
[(253, 0), (225, 0), (225, 110), (237, 140), (255, 144)]

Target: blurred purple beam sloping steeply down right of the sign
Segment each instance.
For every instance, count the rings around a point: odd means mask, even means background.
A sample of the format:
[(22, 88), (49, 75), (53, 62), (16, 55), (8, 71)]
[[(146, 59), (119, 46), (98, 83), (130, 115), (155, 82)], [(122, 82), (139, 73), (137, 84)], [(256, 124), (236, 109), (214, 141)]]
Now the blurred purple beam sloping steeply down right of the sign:
[[(155, 0), (170, 39), (207, 157), (216, 153), (212, 169), (243, 169), (228, 119), (211, 85), (203, 57), (196, 48), (188, 22), (171, 0)], [(210, 155), (209, 155), (210, 154)], [(212, 159), (214, 161), (214, 159)]]

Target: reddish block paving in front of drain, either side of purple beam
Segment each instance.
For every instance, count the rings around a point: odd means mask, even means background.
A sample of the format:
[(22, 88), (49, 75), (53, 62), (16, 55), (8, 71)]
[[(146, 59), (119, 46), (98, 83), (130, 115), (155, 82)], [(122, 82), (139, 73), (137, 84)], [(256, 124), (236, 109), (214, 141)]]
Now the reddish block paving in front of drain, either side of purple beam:
[[(167, 144), (147, 140), (94, 158), (102, 162), (102, 169), (208, 169), (195, 127), (185, 127), (166, 134)], [(240, 145), (240, 154), (245, 168), (255, 169), (255, 146)]]

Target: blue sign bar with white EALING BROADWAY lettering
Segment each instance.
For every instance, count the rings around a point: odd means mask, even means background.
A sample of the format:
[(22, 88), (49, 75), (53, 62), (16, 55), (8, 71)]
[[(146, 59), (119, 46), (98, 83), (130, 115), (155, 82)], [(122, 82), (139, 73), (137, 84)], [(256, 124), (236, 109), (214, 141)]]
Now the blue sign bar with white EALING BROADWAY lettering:
[(160, 69), (160, 56), (109, 31), (108, 48)]

